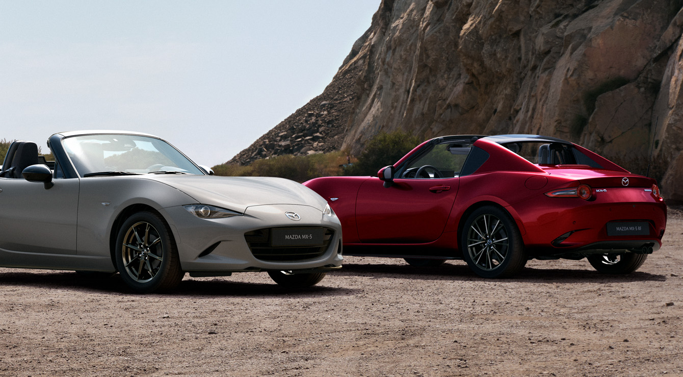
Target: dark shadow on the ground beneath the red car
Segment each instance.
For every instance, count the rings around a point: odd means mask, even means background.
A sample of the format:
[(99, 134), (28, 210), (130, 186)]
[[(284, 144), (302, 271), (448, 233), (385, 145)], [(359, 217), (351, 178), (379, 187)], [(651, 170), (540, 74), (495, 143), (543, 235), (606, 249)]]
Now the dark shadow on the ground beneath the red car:
[[(459, 263), (459, 264), (456, 264)], [(477, 276), (464, 262), (444, 263), (438, 267), (415, 267), (383, 263), (344, 263), (335, 272), (343, 276), (372, 276), (373, 278), (406, 278), (417, 280), (474, 281), (489, 280)], [(626, 275), (600, 274), (589, 266), (585, 270), (568, 268), (524, 268), (512, 278), (497, 281), (529, 281), (543, 283), (628, 283), (634, 281), (666, 281), (667, 276), (648, 272), (632, 272)], [(495, 279), (489, 281), (496, 281)]]

